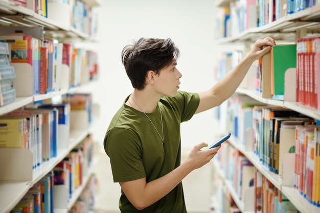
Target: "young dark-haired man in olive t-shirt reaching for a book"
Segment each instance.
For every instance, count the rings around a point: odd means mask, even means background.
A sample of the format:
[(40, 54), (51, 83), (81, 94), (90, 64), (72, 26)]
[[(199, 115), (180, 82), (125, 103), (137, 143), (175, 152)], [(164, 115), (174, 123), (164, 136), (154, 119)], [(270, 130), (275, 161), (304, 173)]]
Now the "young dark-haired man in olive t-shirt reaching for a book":
[(180, 123), (229, 98), (253, 61), (273, 45), (270, 37), (257, 40), (233, 70), (199, 93), (178, 90), (179, 50), (171, 39), (141, 38), (125, 46), (122, 62), (134, 90), (113, 117), (104, 139), (113, 180), (122, 189), (121, 212), (187, 212), (181, 180), (208, 163), (221, 145), (201, 150), (207, 145), (200, 143), (180, 164)]

